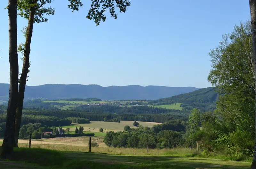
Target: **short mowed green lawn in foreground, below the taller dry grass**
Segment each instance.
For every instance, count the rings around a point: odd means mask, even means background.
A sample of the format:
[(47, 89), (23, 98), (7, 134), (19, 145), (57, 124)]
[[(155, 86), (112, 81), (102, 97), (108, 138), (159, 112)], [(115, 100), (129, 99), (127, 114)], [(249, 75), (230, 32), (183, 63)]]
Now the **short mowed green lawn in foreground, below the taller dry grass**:
[[(92, 150), (93, 149), (95, 148), (92, 148)], [(133, 149), (127, 149), (126, 151), (132, 150)], [(23, 166), (22, 168), (25, 168), (25, 165), (28, 165), (28, 168), (30, 168), (30, 166), (32, 166), (31, 164), (35, 164), (34, 168), (36, 169), (42, 168), (41, 166), (44, 166), (45, 168), (64, 169), (246, 169), (250, 167), (249, 162), (235, 162), (207, 158), (179, 157), (170, 155), (114, 155), (105, 153), (54, 151), (40, 148), (15, 148), (12, 160), (23, 162), (21, 164), (14, 163), (13, 161), (10, 162), (10, 165), (16, 165), (15, 168), (18, 168), (17, 166), (19, 164)], [(0, 164), (1, 169), (9, 168), (8, 162), (6, 161), (0, 161)]]

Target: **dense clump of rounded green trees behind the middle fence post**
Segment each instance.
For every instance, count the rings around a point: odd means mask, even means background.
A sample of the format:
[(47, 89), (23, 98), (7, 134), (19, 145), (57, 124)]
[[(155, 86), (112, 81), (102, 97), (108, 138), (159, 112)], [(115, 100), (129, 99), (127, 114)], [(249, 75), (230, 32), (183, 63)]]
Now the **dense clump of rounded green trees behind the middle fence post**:
[(124, 127), (124, 131), (109, 131), (104, 137), (104, 143), (109, 147), (146, 148), (175, 148), (188, 146), (184, 137), (185, 126), (181, 121), (169, 121), (164, 124), (149, 127), (140, 126), (138, 129)]

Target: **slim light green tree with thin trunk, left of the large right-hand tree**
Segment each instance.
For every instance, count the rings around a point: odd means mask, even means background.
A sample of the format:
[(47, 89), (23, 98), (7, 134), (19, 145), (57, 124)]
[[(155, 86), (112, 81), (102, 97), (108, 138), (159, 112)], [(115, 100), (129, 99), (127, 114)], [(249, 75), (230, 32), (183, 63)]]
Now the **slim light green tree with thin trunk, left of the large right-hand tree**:
[(192, 148), (192, 140), (195, 137), (195, 133), (197, 130), (199, 130), (199, 123), (200, 123), (200, 112), (198, 109), (194, 108), (188, 117), (190, 150)]

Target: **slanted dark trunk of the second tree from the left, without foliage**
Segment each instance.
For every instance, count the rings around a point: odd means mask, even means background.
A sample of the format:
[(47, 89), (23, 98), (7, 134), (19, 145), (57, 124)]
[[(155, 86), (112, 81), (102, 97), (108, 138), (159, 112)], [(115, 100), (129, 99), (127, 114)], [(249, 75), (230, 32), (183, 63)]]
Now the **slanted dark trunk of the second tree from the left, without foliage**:
[(25, 41), (24, 55), (23, 55), (23, 66), (22, 66), (22, 72), (20, 76), (20, 86), (19, 86), (18, 103), (17, 103), (16, 119), (15, 119), (15, 145), (14, 146), (16, 147), (18, 147), (24, 93), (25, 93), (25, 87), (26, 87), (27, 76), (29, 71), (30, 44), (31, 44), (32, 32), (33, 32), (35, 10), (36, 10), (35, 7), (32, 7), (30, 9), (27, 32), (26, 32), (26, 41)]

